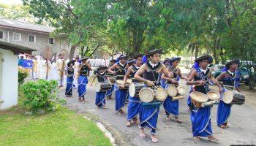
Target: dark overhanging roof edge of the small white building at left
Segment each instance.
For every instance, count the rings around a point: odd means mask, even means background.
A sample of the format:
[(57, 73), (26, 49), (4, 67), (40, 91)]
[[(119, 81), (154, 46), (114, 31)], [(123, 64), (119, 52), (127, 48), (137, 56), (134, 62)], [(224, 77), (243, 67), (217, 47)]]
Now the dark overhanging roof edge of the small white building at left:
[(35, 51), (29, 47), (14, 45), (9, 42), (2, 42), (2, 41), (0, 41), (0, 49), (11, 50), (15, 55), (18, 55), (19, 53), (31, 54), (32, 51)]

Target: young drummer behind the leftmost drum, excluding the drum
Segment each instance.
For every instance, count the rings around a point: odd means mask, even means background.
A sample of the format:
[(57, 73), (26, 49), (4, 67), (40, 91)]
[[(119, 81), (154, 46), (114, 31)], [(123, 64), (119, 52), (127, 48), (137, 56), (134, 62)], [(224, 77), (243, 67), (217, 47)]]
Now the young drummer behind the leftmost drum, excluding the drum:
[[(94, 82), (96, 77), (98, 79), (98, 82), (104, 82), (105, 80), (108, 80), (108, 77), (106, 76), (106, 72), (105, 72), (106, 69), (108, 69), (107, 66), (99, 66), (99, 68), (97, 69), (97, 72), (94, 75), (93, 80), (91, 81), (91, 85)], [(102, 107), (103, 109), (107, 108), (105, 106), (106, 105), (105, 96), (106, 96), (106, 91), (96, 93), (95, 105), (97, 107)]]

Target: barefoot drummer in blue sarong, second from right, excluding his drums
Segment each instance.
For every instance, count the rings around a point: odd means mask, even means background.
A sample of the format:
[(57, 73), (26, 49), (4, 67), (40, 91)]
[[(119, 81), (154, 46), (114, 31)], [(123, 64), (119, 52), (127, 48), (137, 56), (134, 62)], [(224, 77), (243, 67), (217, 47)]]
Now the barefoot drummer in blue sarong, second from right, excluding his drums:
[[(187, 80), (187, 85), (193, 85), (193, 91), (199, 91), (201, 93), (208, 93), (208, 79), (214, 82), (219, 87), (219, 92), (222, 92), (222, 88), (219, 82), (211, 77), (211, 71), (207, 68), (208, 64), (212, 63), (210, 55), (202, 55), (195, 59), (195, 62), (199, 64), (199, 67), (194, 69)], [(188, 99), (190, 101), (190, 97)], [(211, 106), (195, 107), (195, 105), (188, 104), (191, 109), (190, 119), (192, 122), (192, 132), (195, 140), (200, 141), (199, 137), (208, 137), (208, 140), (215, 140), (211, 130)]]

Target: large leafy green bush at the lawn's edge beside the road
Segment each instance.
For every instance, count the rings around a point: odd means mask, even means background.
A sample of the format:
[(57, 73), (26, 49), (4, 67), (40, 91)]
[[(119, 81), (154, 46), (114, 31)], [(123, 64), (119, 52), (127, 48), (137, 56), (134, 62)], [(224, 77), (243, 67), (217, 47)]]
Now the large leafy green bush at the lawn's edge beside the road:
[(59, 104), (65, 103), (64, 99), (58, 98), (58, 82), (56, 80), (38, 80), (27, 82), (23, 85), (23, 104), (30, 107), (31, 111), (39, 110), (55, 111)]

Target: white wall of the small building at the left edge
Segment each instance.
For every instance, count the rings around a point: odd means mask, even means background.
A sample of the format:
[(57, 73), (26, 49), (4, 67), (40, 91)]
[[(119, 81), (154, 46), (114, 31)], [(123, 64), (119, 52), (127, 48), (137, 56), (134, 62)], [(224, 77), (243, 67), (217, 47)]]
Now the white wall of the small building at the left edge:
[(0, 110), (18, 104), (18, 55), (0, 48)]

